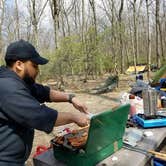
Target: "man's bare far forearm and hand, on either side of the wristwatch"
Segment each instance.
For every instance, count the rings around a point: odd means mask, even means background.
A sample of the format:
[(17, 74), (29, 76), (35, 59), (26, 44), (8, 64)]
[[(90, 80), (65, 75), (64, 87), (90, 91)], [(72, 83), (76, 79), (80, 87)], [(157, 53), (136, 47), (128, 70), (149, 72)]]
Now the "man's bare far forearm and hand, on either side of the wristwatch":
[[(50, 101), (52, 101), (52, 102), (69, 102), (69, 99), (70, 99), (69, 94), (50, 89)], [(85, 106), (85, 104), (80, 102), (76, 97), (73, 97), (70, 100), (70, 102), (80, 112), (87, 113), (87, 107)]]

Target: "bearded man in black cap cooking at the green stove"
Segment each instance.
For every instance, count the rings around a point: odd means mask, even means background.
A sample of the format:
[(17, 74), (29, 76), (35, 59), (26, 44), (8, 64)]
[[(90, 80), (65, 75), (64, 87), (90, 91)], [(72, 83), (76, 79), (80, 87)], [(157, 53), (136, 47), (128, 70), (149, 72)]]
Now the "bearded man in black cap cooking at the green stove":
[[(11, 43), (0, 67), (0, 166), (23, 166), (32, 148), (34, 129), (50, 133), (54, 126), (71, 122), (86, 126), (87, 108), (72, 94), (51, 90), (35, 83), (41, 57), (24, 40)], [(44, 104), (70, 102), (83, 113), (57, 112)]]

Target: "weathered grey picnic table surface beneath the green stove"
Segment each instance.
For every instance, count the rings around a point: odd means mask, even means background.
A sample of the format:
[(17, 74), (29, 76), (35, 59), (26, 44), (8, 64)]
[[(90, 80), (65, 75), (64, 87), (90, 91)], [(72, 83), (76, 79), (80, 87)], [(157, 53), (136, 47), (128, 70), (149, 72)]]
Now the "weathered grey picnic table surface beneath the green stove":
[[(132, 130), (128, 128), (127, 131)], [(166, 127), (139, 129), (140, 131), (151, 131), (152, 136), (143, 137), (137, 145), (137, 149), (141, 151), (121, 148), (119, 151), (110, 155), (96, 166), (144, 166), (150, 160), (150, 156), (146, 155), (148, 150), (157, 149), (163, 140), (166, 138)], [(145, 153), (143, 153), (145, 152)], [(34, 159), (34, 166), (66, 166), (65, 163), (55, 159), (53, 149), (36, 156)]]

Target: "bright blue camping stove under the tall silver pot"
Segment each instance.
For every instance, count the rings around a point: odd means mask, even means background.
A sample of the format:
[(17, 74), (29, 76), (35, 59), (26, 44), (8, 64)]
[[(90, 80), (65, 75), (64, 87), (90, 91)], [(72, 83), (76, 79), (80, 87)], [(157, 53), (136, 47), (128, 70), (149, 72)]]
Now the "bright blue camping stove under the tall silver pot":
[(166, 126), (166, 116), (144, 114), (135, 115), (136, 122), (144, 128)]

